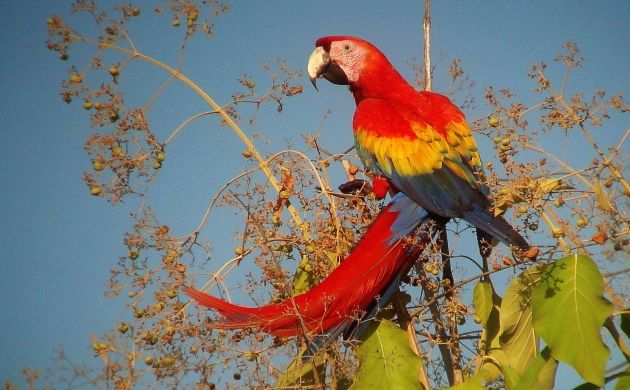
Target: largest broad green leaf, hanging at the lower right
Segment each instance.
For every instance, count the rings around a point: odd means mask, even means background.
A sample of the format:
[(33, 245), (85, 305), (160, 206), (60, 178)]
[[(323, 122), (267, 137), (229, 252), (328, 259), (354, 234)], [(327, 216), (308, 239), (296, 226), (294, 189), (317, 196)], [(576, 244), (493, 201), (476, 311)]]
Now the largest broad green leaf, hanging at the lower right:
[(610, 357), (600, 330), (613, 312), (603, 290), (604, 279), (595, 262), (574, 254), (547, 265), (531, 302), (534, 329), (551, 355), (598, 386), (604, 385)]

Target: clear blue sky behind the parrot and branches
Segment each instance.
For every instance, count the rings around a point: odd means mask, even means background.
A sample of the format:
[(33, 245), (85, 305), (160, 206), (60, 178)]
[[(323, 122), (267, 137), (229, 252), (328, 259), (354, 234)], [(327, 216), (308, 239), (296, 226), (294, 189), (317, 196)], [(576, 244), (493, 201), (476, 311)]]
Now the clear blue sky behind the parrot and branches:
[[(150, 12), (155, 4), (145, 4), (132, 36), (141, 51), (173, 64), (179, 33), (170, 28), (167, 17), (156, 22)], [(238, 89), (236, 79), (242, 74), (265, 80), (261, 62), (273, 64), (284, 58), (291, 68), (304, 68), (314, 40), (322, 35), (370, 40), (408, 78), (412, 58), (421, 59), (421, 1), (232, 1), (231, 6), (216, 20), (215, 38), (191, 42), (184, 66), (220, 103)], [(69, 64), (58, 61), (44, 45), (45, 19), (67, 15), (69, 2), (4, 1), (0, 7), (0, 381), (4, 381), (18, 380), (24, 366), (50, 366), (58, 346), (75, 361), (89, 361), (90, 332), (102, 333), (128, 315), (123, 301), (105, 298), (103, 290), (109, 269), (125, 253), (122, 234), (132, 224), (129, 212), (137, 210), (140, 201), (111, 207), (89, 196), (81, 181), (82, 172), (89, 169), (83, 152), (91, 133), (87, 116), (79, 105), (67, 106), (59, 99), (59, 82)], [(630, 97), (628, 1), (442, 0), (434, 2), (432, 20), (438, 74), (444, 75), (449, 65), (449, 60), (440, 61), (440, 53), (460, 58), (477, 83), (472, 91), (477, 96), (492, 85), (509, 87), (531, 101), (533, 85), (527, 77), (531, 63), (551, 62), (570, 40), (587, 58), (577, 76), (581, 88), (588, 92), (601, 87)], [(131, 92), (142, 91), (144, 80), (127, 81), (129, 95), (139, 101), (146, 98)], [(333, 112), (324, 142), (339, 150), (349, 146), (350, 95), (328, 83), (321, 83), (320, 92), (310, 88), (306, 78), (303, 84), (304, 93), (288, 101), (286, 113), (261, 117), (258, 130), (270, 141), (265, 150), (282, 149), (286, 138), (299, 144), (299, 134), (318, 128), (329, 107)], [(434, 89), (447, 86), (439, 77)], [(204, 110), (198, 99), (181, 89), (161, 104), (164, 111), (152, 120), (162, 135), (186, 115)], [(476, 118), (486, 112), (480, 105), (467, 114)], [(184, 232), (196, 224), (220, 183), (242, 168), (226, 163), (242, 146), (225, 129), (207, 125), (181, 138), (169, 151), (162, 176), (146, 201), (164, 223)], [(207, 232), (209, 238), (213, 234)], [(232, 247), (217, 249), (217, 256)]]

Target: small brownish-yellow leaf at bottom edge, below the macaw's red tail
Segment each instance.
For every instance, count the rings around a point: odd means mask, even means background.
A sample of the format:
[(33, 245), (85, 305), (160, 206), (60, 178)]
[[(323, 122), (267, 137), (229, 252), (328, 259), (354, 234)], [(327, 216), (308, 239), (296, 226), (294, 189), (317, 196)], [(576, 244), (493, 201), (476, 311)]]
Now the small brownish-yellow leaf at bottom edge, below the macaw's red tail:
[(302, 355), (306, 348), (301, 348), (298, 356), (287, 367), (286, 371), (278, 377), (274, 389), (287, 387), (309, 387), (326, 380), (326, 357), (317, 354), (311, 361), (302, 362)]

